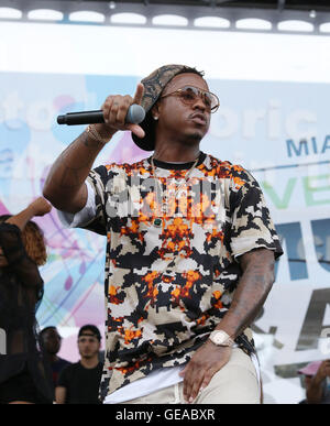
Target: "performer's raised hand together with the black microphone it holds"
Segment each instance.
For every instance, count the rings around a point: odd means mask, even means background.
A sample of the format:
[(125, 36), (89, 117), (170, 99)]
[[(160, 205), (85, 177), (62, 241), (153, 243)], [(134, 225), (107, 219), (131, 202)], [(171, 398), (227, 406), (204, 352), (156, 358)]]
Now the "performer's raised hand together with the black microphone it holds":
[(130, 130), (138, 138), (144, 138), (139, 125), (144, 120), (145, 111), (140, 106), (144, 87), (139, 83), (134, 98), (131, 96), (108, 96), (99, 111), (68, 112), (58, 116), (58, 124), (94, 124), (97, 132), (105, 139), (111, 138), (118, 130)]

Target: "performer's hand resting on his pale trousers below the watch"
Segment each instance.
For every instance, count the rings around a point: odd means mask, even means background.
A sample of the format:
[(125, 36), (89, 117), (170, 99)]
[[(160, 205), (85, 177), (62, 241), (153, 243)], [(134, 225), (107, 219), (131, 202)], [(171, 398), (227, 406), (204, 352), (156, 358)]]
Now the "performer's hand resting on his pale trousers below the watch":
[(212, 376), (226, 365), (230, 359), (232, 349), (220, 347), (207, 340), (193, 356), (186, 368), (180, 372), (184, 376), (184, 396), (188, 403), (197, 397)]

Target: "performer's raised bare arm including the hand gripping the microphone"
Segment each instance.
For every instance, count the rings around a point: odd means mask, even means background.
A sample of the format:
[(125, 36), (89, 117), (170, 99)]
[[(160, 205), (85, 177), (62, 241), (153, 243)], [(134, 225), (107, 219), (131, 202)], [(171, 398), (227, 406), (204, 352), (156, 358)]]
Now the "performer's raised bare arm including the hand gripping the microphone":
[(106, 122), (92, 124), (94, 132), (84, 131), (57, 157), (43, 188), (44, 197), (54, 207), (76, 214), (86, 206), (88, 193), (85, 181), (96, 157), (118, 130), (131, 130), (138, 138), (144, 138), (144, 131), (140, 125), (125, 123), (129, 107), (132, 103), (141, 105), (143, 92), (144, 87), (139, 84), (134, 98), (109, 96), (102, 105)]

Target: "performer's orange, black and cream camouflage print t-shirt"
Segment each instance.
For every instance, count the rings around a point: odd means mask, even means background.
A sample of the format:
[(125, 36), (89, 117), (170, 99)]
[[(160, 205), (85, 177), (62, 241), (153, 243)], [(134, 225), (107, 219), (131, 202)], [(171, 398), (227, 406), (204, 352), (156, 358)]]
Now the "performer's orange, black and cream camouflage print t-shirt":
[[(189, 361), (226, 315), (242, 274), (239, 256), (282, 253), (256, 181), (200, 154), (188, 164), (151, 160), (90, 172), (97, 215), (81, 228), (107, 234), (102, 394), (155, 369)], [(248, 328), (235, 340), (254, 350)]]

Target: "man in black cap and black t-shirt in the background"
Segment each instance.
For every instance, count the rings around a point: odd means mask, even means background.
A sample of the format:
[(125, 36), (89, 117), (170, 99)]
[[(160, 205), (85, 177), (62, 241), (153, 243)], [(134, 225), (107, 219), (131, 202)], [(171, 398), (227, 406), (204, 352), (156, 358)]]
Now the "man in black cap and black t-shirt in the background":
[(102, 362), (99, 361), (101, 335), (94, 325), (86, 325), (78, 332), (80, 360), (67, 365), (59, 374), (57, 404), (99, 404)]

